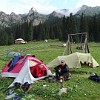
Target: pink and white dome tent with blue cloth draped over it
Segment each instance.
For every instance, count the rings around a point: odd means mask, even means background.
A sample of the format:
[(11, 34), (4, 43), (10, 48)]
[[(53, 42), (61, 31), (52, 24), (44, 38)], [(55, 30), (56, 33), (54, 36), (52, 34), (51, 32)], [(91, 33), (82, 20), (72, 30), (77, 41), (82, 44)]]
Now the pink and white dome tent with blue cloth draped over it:
[(20, 83), (23, 83), (25, 81), (31, 83), (32, 81), (35, 81), (38, 78), (34, 78), (32, 76), (30, 68), (41, 63), (44, 65), (47, 71), (47, 76), (52, 75), (50, 69), (41, 60), (32, 55), (26, 55), (25, 57), (20, 56), (19, 59), (17, 59), (17, 61), (16, 59), (14, 59), (14, 61), (10, 60), (2, 69), (1, 76), (16, 77), (15, 80), (17, 80)]

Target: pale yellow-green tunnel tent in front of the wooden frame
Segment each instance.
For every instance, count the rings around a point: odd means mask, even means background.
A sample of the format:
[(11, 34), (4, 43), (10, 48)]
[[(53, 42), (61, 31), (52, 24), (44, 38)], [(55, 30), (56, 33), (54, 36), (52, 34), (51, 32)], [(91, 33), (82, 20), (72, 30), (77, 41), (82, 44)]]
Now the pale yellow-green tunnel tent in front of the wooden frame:
[(93, 64), (92, 67), (99, 66), (97, 61), (92, 57), (90, 53), (79, 53), (79, 52), (75, 52), (66, 56), (58, 56), (57, 58), (52, 60), (50, 63), (48, 63), (47, 66), (55, 67), (58, 64), (60, 64), (60, 61), (62, 59), (66, 61), (69, 68), (80, 68), (81, 63), (84, 63), (84, 62), (86, 62), (87, 64), (92, 63)]

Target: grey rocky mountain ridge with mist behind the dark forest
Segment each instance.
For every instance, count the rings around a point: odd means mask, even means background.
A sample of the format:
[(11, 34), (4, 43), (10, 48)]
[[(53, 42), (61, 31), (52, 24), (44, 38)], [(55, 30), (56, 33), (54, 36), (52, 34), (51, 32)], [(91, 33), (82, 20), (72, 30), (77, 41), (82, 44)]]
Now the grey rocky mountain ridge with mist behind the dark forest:
[(3, 11), (1, 11), (0, 25), (4, 27), (10, 27), (13, 24), (32, 21), (33, 26), (36, 26), (39, 25), (39, 23), (43, 23), (46, 20), (49, 20), (53, 17), (62, 18), (64, 16), (69, 16), (70, 13), (73, 13), (74, 15), (81, 15), (82, 13), (84, 13), (86, 16), (93, 16), (95, 14), (100, 14), (100, 7), (89, 7), (83, 5), (81, 8), (78, 8), (74, 11), (70, 11), (68, 9), (61, 9), (53, 11), (48, 15), (38, 13), (35, 8), (31, 8), (27, 14), (15, 14), (14, 12), (12, 12), (11, 14), (6, 14)]

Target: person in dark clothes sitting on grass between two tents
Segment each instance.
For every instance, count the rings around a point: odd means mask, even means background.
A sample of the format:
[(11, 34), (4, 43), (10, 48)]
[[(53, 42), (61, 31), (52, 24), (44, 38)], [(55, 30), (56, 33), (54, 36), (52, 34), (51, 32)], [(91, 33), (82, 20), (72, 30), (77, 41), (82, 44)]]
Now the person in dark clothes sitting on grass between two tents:
[(70, 79), (69, 67), (64, 60), (61, 60), (61, 64), (56, 66), (54, 70), (56, 74), (55, 77), (57, 80), (59, 80), (61, 76), (63, 76), (64, 80)]

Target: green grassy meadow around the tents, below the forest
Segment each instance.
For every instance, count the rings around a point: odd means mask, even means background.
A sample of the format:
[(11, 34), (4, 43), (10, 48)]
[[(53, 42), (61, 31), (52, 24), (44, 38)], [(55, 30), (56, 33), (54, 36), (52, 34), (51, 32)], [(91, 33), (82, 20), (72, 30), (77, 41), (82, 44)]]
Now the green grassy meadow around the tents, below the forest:
[[(57, 56), (61, 56), (65, 47), (62, 47), (62, 42), (57, 40), (49, 40), (48, 43), (30, 42), (27, 44), (0, 46), (0, 69), (8, 62), (7, 50), (19, 51), (23, 55), (32, 54), (43, 60), (46, 64)], [(89, 43), (89, 48), (92, 56), (100, 64), (100, 43)], [(73, 46), (74, 51), (75, 46)], [(53, 72), (53, 69), (51, 69)], [(93, 82), (88, 79), (90, 72), (95, 72), (100, 75), (100, 67), (89, 68), (82, 66), (79, 69), (70, 69), (71, 80), (65, 81), (64, 87), (68, 92), (58, 95), (58, 82), (49, 83), (46, 80), (37, 81), (32, 84), (32, 90), (26, 94), (22, 100), (100, 100), (100, 83)], [(4, 100), (5, 93), (3, 88), (7, 88), (13, 81), (12, 78), (0, 77), (0, 100)], [(43, 87), (43, 85), (46, 87)], [(17, 90), (17, 93), (22, 93), (22, 90)]]

